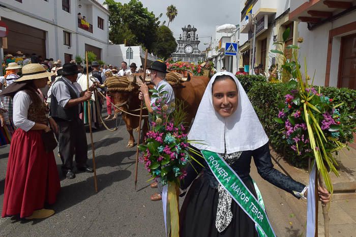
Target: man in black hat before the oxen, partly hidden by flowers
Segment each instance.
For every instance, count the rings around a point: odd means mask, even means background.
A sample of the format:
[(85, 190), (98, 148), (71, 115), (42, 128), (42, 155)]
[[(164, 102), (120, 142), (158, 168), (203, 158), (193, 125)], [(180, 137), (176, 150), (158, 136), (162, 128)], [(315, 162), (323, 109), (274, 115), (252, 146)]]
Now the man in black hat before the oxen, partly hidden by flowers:
[[(164, 98), (166, 98), (166, 103), (168, 105), (170, 105), (171, 103), (174, 103), (175, 98), (174, 98), (174, 92), (173, 92), (173, 88), (172, 86), (170, 86), (170, 84), (168, 84), (168, 82), (165, 80), (166, 78), (166, 74), (167, 72), (167, 65), (165, 63), (163, 63), (162, 61), (155, 61), (152, 63), (151, 67), (148, 68), (151, 70), (151, 82), (153, 84), (155, 84), (155, 90), (158, 90), (158, 88), (160, 88), (161, 86), (161, 92), (167, 92), (166, 94), (163, 95)], [(144, 103), (147, 107), (147, 110), (149, 111), (150, 115), (154, 113), (154, 111), (157, 109), (157, 107), (154, 106), (155, 102), (156, 102), (156, 97), (152, 96), (150, 98), (150, 94), (149, 94), (149, 88), (147, 87), (147, 85), (145, 83), (141, 83), (140, 84), (140, 94), (138, 96), (138, 98), (140, 100), (144, 100)], [(153, 94), (155, 95), (155, 93)], [(171, 106), (168, 106), (169, 108), (171, 108)], [(170, 109), (170, 112), (172, 112), (174, 110)], [(152, 117), (150, 116), (150, 124), (152, 122)], [(151, 200), (152, 201), (158, 201), (162, 199), (162, 184), (160, 181), (158, 182), (154, 182), (151, 184), (151, 188), (158, 188), (158, 193), (155, 193), (153, 195), (151, 195)]]

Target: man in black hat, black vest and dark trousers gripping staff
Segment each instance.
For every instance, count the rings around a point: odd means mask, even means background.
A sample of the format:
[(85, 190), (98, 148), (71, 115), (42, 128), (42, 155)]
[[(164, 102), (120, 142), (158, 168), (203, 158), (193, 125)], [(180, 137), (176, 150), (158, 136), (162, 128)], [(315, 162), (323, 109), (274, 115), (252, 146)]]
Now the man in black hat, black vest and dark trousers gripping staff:
[(50, 115), (60, 128), (58, 146), (63, 162), (62, 171), (66, 174), (67, 179), (75, 177), (73, 172), (74, 154), (78, 170), (94, 172), (93, 168), (86, 164), (87, 141), (79, 113), (82, 111), (82, 103), (92, 98), (95, 85), (89, 88), (89, 92), (79, 92), (74, 85), (78, 73), (77, 65), (64, 64), (62, 78), (57, 79), (52, 85)]

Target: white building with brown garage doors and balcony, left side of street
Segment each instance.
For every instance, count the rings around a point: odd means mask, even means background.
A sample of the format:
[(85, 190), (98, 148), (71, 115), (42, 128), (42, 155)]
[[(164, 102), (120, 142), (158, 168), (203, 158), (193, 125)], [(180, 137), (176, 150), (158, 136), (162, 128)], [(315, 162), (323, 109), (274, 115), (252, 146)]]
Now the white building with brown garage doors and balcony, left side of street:
[[(143, 65), (141, 46), (132, 46), (133, 58), (126, 57), (128, 47), (109, 43), (109, 16), (104, 0), (0, 0), (1, 21), (8, 26), (6, 53), (21, 51), (36, 53), (45, 58), (60, 59), (63, 63), (76, 55), (85, 57), (93, 51), (97, 60), (120, 65), (122, 61)], [(89, 27), (78, 19), (85, 16)], [(130, 55), (129, 55), (130, 56)], [(149, 63), (157, 57), (149, 55)]]

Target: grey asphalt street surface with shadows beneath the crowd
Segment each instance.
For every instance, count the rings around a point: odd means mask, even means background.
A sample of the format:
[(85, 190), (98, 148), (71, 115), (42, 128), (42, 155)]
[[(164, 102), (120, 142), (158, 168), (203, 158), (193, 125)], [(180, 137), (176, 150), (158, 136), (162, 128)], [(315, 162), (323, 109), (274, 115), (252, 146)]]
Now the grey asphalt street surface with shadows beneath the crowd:
[[(108, 125), (113, 128), (115, 122)], [(88, 133), (87, 139), (90, 144)], [(55, 210), (55, 215), (32, 221), (0, 218), (0, 236), (164, 236), (162, 202), (150, 201), (155, 190), (146, 183), (149, 176), (142, 164), (138, 169), (137, 190), (134, 189), (136, 148), (126, 149), (127, 141), (123, 122), (114, 132), (95, 131), (99, 192), (95, 193), (93, 174), (77, 173), (75, 179), (67, 180), (60, 172), (61, 193), (49, 207)], [(91, 146), (88, 147), (91, 163)], [(8, 152), (9, 146), (0, 147), (0, 212)], [(61, 160), (56, 157), (56, 161), (60, 171)], [(284, 203), (277, 188), (263, 181), (255, 167), (251, 170), (276, 235), (301, 236), (302, 224)]]

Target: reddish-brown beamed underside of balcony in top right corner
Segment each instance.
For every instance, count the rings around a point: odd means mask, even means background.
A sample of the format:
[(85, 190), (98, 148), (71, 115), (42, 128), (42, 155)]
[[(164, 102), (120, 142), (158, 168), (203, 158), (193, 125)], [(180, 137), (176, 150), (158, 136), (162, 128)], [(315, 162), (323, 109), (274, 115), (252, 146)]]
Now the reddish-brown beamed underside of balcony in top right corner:
[(342, 14), (343, 11), (347, 12), (354, 9), (352, 6), (352, 0), (342, 1), (292, 1), (290, 5), (289, 20), (302, 21), (311, 24), (319, 24), (323, 21), (327, 21), (329, 18), (333, 18), (338, 14)]

